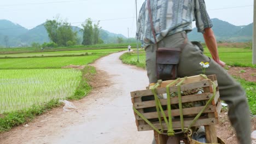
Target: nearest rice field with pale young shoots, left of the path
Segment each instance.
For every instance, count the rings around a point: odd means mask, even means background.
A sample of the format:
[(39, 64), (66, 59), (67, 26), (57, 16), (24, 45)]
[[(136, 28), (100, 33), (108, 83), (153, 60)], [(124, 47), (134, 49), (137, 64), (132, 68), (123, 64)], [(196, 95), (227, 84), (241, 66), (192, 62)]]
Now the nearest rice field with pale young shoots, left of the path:
[(74, 69), (0, 70), (0, 113), (69, 97), (81, 75)]

